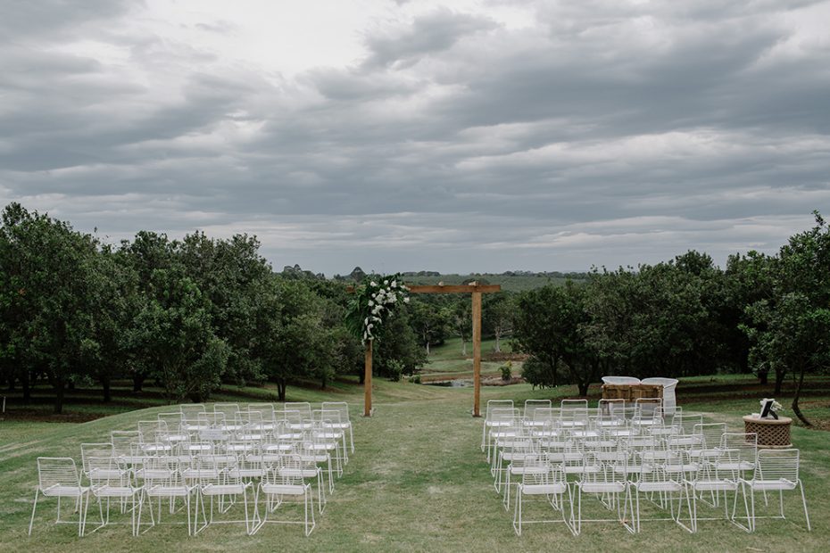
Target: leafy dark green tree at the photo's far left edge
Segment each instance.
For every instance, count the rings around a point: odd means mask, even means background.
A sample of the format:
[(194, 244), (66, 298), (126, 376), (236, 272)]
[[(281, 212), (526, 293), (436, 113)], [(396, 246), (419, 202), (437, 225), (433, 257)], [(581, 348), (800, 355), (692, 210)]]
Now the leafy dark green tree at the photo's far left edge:
[(67, 384), (87, 376), (83, 364), (95, 343), (87, 304), (95, 294), (96, 242), (69, 224), (29, 212), (19, 203), (3, 212), (0, 280), (4, 365), (45, 374), (63, 409)]

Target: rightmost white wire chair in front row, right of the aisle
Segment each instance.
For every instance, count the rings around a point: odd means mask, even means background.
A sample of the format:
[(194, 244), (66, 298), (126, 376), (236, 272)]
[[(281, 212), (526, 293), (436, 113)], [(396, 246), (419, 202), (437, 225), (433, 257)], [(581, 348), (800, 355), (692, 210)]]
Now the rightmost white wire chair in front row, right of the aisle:
[[(758, 518), (780, 518), (784, 516), (784, 491), (801, 491), (801, 505), (804, 508), (804, 519), (807, 522), (808, 532), (809, 513), (807, 498), (804, 496), (804, 485), (799, 478), (801, 452), (797, 449), (787, 450), (759, 450), (758, 459), (752, 471), (751, 478), (741, 479), (742, 486), (750, 491), (749, 531), (755, 532)], [(755, 491), (778, 491), (779, 514), (777, 516), (757, 516), (755, 512)], [(745, 491), (744, 491), (745, 493)]]

